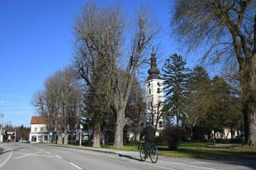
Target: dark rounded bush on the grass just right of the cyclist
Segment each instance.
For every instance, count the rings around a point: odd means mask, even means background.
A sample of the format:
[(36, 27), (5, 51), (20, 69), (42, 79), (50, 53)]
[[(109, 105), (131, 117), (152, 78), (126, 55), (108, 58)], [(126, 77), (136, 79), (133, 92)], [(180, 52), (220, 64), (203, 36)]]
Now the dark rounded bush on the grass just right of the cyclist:
[(169, 150), (177, 150), (179, 140), (183, 135), (183, 130), (178, 126), (168, 126), (164, 129), (164, 139), (168, 144)]

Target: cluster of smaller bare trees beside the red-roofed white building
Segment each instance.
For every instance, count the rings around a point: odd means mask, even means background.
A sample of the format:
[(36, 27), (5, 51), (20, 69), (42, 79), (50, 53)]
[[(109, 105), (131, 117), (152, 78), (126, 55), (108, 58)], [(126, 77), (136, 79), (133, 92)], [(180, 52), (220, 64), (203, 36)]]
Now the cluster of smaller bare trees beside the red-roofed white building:
[[(47, 129), (61, 136), (61, 133), (67, 134), (68, 127), (75, 130), (81, 96), (78, 78), (73, 69), (67, 67), (47, 78), (44, 89), (35, 93), (32, 102), (40, 116), (46, 117)], [(65, 136), (67, 144), (68, 135)], [(58, 139), (61, 143), (61, 138)]]

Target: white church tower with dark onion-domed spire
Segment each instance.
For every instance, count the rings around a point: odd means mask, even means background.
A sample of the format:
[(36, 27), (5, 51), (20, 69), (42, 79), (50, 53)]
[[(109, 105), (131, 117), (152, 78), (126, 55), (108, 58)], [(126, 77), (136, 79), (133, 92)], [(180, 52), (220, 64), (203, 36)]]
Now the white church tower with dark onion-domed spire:
[[(154, 50), (151, 54), (149, 77), (145, 81), (146, 119), (157, 127), (156, 135), (163, 129), (164, 79), (159, 77)], [(157, 124), (157, 125), (156, 125)]]

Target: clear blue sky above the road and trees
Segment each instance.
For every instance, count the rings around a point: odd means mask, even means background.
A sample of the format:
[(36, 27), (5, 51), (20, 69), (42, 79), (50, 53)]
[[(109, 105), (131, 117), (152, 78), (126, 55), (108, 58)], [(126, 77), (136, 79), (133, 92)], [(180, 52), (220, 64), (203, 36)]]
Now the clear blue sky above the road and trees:
[[(73, 53), (73, 19), (85, 0), (1, 0), (0, 1), (0, 111), (4, 123), (30, 125), (36, 111), (33, 93), (45, 78), (70, 64)], [(105, 0), (100, 6), (119, 3), (129, 17), (145, 4), (162, 27), (159, 37), (159, 65), (168, 54), (184, 54), (169, 29), (169, 0)], [(188, 66), (197, 59), (190, 57)], [(1, 121), (0, 121), (1, 123)]]

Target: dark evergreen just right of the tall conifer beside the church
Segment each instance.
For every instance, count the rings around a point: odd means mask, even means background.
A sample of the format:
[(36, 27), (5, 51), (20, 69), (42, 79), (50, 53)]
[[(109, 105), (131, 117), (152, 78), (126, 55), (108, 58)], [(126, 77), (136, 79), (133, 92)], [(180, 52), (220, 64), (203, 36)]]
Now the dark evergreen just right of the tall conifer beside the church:
[(208, 133), (206, 113), (211, 106), (211, 79), (201, 66), (193, 68), (187, 82), (187, 98), (183, 111), (186, 113), (184, 122), (194, 139), (203, 139)]

